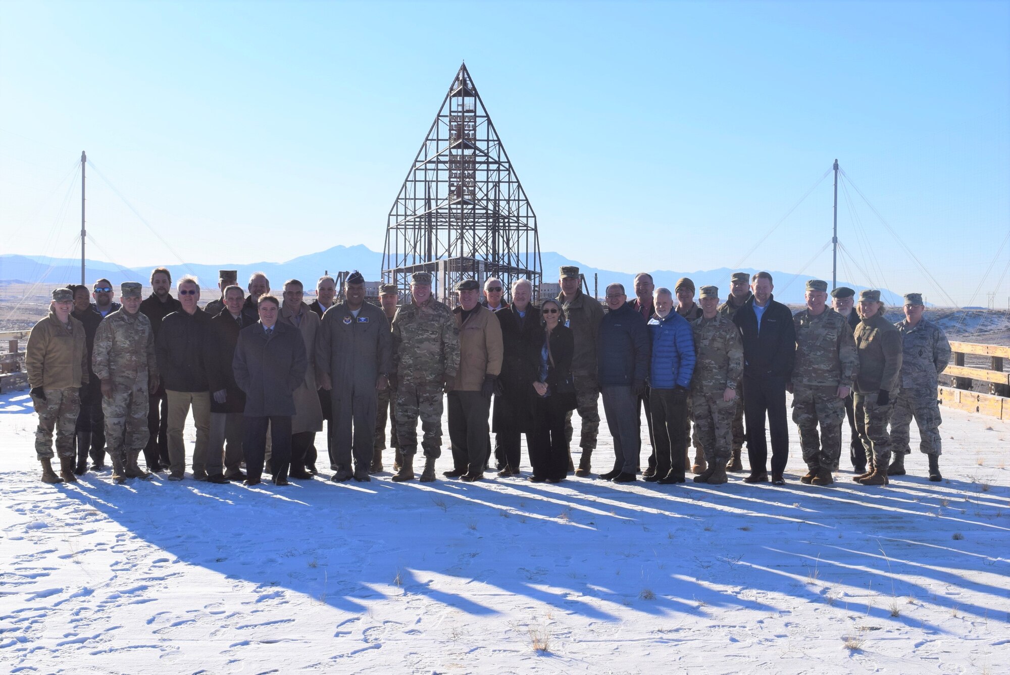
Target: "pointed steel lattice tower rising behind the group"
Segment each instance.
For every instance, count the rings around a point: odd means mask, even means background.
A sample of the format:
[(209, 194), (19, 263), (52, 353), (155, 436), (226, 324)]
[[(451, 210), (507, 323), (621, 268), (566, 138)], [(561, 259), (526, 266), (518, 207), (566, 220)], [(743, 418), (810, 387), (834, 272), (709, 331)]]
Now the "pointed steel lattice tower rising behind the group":
[(383, 280), (406, 290), (415, 272), (432, 275), (436, 297), (456, 283), (497, 277), (506, 288), (540, 282), (536, 214), (466, 64), (393, 202)]

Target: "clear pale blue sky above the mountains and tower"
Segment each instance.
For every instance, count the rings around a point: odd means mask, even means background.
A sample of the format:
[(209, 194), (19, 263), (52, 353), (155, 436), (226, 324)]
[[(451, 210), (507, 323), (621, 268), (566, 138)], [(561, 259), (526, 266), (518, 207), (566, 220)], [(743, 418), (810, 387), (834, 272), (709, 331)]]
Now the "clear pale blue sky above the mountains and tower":
[[(1006, 2), (5, 2), (4, 253), (74, 255), (81, 150), (187, 261), (381, 251), (464, 59), (544, 251), (829, 277), (830, 179), (754, 246), (837, 157), (919, 261), (850, 192), (842, 276), (1010, 296)], [(175, 262), (89, 176), (89, 257)]]

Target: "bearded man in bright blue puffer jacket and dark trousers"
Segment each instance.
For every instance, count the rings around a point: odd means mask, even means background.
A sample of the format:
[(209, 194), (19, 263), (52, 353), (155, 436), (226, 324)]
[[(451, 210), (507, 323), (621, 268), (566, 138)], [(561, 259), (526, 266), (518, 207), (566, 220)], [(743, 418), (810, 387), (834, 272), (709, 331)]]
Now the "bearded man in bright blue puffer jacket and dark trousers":
[(684, 482), (687, 449), (688, 391), (694, 373), (694, 334), (691, 324), (673, 311), (669, 288), (655, 289), (655, 316), (648, 321), (652, 359), (648, 384), (652, 412), (652, 458), (655, 473), (647, 481), (663, 484)]

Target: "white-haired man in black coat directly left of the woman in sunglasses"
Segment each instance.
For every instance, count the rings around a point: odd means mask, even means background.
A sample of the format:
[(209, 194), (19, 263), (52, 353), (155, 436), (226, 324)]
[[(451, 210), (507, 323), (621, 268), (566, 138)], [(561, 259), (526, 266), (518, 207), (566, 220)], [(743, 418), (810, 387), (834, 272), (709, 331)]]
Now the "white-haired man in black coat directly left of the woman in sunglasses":
[(528, 448), (532, 432), (532, 383), (538, 373), (529, 355), (543, 343), (540, 310), (529, 301), (532, 294), (532, 284), (519, 279), (512, 284), (511, 304), (495, 312), (502, 327), (502, 372), (491, 430), (495, 432), (498, 475), (503, 478), (519, 475), (520, 437), (526, 433)]

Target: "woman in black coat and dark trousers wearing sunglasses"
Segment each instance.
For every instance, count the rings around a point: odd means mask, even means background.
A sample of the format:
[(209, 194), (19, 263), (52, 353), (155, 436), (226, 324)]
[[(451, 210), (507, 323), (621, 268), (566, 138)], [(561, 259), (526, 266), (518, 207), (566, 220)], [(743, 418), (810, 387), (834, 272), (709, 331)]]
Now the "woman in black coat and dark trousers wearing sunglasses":
[(529, 462), (534, 483), (560, 483), (568, 476), (569, 448), (565, 437), (565, 416), (576, 408), (572, 382), (572, 355), (575, 338), (565, 326), (564, 310), (553, 299), (540, 305), (542, 338), (530, 350), (536, 367), (532, 382), (533, 426), (529, 439)]

